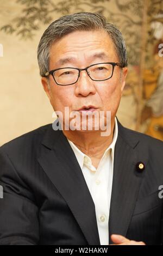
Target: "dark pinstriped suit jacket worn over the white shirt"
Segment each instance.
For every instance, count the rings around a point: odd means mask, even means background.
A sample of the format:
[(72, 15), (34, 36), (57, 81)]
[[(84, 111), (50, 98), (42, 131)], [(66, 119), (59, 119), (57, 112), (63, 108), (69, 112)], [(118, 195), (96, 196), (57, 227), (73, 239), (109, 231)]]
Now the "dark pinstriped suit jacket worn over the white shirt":
[[(163, 243), (162, 156), (161, 141), (118, 122), (109, 235)], [(138, 172), (137, 162), (145, 169)], [(0, 185), (1, 245), (100, 245), (82, 170), (64, 133), (52, 124), (0, 148)]]

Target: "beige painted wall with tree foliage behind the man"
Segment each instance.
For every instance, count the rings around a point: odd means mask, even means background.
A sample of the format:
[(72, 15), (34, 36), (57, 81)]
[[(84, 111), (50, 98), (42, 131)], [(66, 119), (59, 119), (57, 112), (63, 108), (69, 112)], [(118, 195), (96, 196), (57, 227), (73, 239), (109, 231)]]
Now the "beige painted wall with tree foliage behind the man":
[(0, 6), (1, 145), (53, 122), (40, 81), (37, 45), (49, 23), (78, 11), (103, 13), (126, 39), (130, 71), (117, 114), (121, 123), (163, 139), (163, 58), (158, 54), (162, 1), (0, 0)]

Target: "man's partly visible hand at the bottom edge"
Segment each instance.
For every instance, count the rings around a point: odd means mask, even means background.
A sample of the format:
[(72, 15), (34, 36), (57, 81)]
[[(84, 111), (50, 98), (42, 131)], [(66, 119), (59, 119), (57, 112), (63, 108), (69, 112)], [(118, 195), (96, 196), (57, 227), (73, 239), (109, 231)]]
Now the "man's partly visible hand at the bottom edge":
[(111, 235), (111, 240), (114, 243), (113, 245), (146, 245), (144, 242), (129, 240), (122, 235)]

